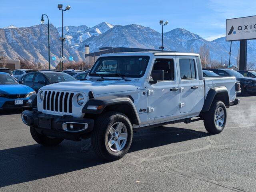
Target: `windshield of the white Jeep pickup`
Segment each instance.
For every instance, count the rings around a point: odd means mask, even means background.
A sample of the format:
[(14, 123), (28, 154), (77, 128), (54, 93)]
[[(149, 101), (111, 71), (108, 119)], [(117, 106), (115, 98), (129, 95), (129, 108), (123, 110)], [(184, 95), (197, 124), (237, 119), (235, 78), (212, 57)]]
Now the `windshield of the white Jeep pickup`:
[(89, 76), (118, 76), (124, 77), (142, 77), (146, 71), (150, 57), (149, 56), (116, 56), (100, 57)]

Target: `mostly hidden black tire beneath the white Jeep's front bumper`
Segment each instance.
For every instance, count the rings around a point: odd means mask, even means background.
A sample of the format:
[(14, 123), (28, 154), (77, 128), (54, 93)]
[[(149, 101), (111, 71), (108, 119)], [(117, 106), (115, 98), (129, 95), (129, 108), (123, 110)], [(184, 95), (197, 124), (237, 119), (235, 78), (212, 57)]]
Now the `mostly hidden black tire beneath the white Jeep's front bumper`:
[(30, 133), (33, 139), (37, 143), (39, 143), (40, 145), (48, 146), (48, 147), (56, 146), (64, 140), (62, 138), (57, 138), (57, 137), (50, 138), (50, 137), (47, 137), (46, 135), (42, 135), (38, 133), (36, 129), (34, 129), (33, 127), (30, 127)]

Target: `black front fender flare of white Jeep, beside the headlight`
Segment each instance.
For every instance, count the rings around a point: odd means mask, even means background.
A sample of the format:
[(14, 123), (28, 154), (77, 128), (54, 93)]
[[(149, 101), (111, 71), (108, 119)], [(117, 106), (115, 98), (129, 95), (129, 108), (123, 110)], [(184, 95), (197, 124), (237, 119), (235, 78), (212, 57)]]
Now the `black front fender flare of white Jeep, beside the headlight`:
[[(102, 96), (97, 98), (92, 98), (86, 102), (82, 109), (84, 114), (101, 114), (107, 106), (116, 104), (127, 104), (132, 109), (132, 114), (135, 118), (137, 125), (140, 124), (140, 117), (134, 105), (134, 100), (131, 96)], [(100, 109), (88, 109), (88, 106), (102, 106)]]

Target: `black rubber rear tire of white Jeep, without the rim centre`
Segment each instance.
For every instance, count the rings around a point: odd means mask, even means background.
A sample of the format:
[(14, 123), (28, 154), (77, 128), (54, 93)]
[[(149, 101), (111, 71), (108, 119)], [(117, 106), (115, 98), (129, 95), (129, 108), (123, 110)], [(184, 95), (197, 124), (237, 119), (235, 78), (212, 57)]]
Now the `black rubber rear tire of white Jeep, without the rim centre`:
[[(223, 109), (224, 111), (224, 122), (221, 126), (217, 126), (215, 121), (215, 114), (219, 108)], [(226, 120), (227, 120), (227, 112), (226, 112), (225, 104), (222, 101), (214, 100), (212, 102), (212, 106), (210, 107), (210, 110), (208, 112), (205, 112), (204, 114), (204, 127), (206, 131), (213, 134), (220, 133), (226, 125)]]

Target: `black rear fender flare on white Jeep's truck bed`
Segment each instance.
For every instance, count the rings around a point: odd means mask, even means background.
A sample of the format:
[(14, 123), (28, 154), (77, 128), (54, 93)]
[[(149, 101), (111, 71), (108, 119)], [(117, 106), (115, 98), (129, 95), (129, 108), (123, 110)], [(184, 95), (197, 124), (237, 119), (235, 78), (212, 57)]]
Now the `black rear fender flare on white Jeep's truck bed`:
[(214, 88), (210, 88), (210, 90), (206, 96), (206, 99), (204, 101), (204, 106), (202, 108), (202, 112), (207, 112), (210, 110), (210, 107), (212, 105), (212, 102), (213, 102), (215, 96), (220, 93), (224, 93), (224, 95), (225, 95), (224, 98), (222, 98), (222, 101), (224, 102), (225, 106), (226, 107), (230, 106), (228, 89), (224, 86), (214, 87)]

